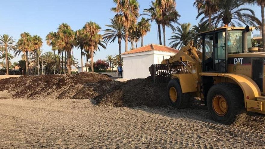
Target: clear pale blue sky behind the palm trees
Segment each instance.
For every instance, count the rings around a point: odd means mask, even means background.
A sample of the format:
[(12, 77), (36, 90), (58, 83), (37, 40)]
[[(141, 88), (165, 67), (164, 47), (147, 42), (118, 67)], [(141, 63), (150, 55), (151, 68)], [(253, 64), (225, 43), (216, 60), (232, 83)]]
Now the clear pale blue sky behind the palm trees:
[[(144, 8), (149, 8), (151, 0), (138, 0), (140, 4), (139, 13)], [(193, 7), (194, 0), (177, 0), (176, 9), (181, 15), (179, 22), (190, 22), (197, 24), (197, 15)], [(59, 24), (68, 23), (73, 30), (81, 29), (87, 21), (98, 23), (102, 30), (109, 24), (109, 18), (115, 13), (110, 11), (115, 7), (112, 0), (2, 0), (0, 8), (0, 35), (8, 34), (14, 39), (20, 38), (20, 33), (29, 32), (31, 35), (39, 35), (43, 39), (42, 49), (44, 52), (51, 51), (51, 47), (46, 45), (45, 37), (51, 31), (57, 31)], [(260, 7), (247, 5), (252, 8), (256, 16), (261, 19)], [(147, 16), (144, 16), (147, 17)], [(139, 18), (139, 20), (141, 17)], [(171, 30), (166, 30), (166, 39), (171, 36)], [(103, 34), (104, 32), (101, 31)], [(254, 33), (257, 33), (255, 31)], [(144, 45), (159, 43), (157, 40), (156, 24), (152, 23), (151, 32), (144, 37)], [(167, 41), (167, 44), (169, 41)], [(140, 43), (138, 43), (140, 46)], [(129, 44), (130, 47), (130, 44)], [(125, 51), (125, 43), (122, 42), (122, 52)], [(118, 54), (117, 41), (107, 45), (107, 49), (96, 52), (94, 60), (104, 59), (106, 55)], [(12, 53), (13, 54), (13, 53)], [(80, 51), (73, 49), (73, 54), (80, 61)], [(14, 58), (12, 62), (18, 61)]]

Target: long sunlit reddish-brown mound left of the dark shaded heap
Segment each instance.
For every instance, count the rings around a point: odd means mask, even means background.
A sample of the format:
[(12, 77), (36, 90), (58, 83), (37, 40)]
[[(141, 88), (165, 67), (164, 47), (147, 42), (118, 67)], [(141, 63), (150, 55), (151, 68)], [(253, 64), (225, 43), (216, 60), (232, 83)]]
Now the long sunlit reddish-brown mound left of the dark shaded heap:
[[(112, 88), (105, 87), (99, 89), (101, 85), (110, 82), (113, 81), (108, 76), (97, 73), (20, 76), (0, 80), (0, 90), (10, 91), (15, 98), (91, 99), (111, 90)], [(77, 95), (80, 91), (87, 92), (87, 90), (92, 92), (85, 97)]]

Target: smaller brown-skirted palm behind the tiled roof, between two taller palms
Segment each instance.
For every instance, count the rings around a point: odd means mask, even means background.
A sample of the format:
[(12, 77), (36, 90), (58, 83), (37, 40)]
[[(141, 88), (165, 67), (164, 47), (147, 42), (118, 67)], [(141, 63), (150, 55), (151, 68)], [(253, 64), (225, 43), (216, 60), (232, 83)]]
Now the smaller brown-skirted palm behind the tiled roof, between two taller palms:
[(141, 34), (141, 47), (144, 44), (144, 36), (147, 34), (147, 32), (150, 32), (151, 24), (149, 23), (149, 19), (145, 19), (142, 17), (141, 21), (138, 22), (138, 30)]

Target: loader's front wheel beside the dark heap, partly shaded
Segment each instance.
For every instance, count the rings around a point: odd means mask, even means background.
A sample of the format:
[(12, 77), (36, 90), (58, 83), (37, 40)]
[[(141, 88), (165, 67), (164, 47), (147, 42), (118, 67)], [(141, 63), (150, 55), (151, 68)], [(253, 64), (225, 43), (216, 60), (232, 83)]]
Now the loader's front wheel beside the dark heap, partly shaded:
[[(176, 92), (176, 93), (175, 93)], [(190, 94), (182, 93), (179, 79), (171, 79), (167, 85), (167, 101), (175, 108), (186, 108), (190, 104)]]

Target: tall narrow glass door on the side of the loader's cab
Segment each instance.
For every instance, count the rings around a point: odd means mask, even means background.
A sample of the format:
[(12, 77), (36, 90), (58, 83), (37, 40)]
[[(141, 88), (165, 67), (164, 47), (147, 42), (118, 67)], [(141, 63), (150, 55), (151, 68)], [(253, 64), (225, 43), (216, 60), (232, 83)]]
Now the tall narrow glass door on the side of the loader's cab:
[(214, 32), (214, 72), (226, 72), (226, 30)]

